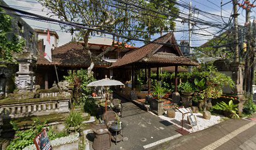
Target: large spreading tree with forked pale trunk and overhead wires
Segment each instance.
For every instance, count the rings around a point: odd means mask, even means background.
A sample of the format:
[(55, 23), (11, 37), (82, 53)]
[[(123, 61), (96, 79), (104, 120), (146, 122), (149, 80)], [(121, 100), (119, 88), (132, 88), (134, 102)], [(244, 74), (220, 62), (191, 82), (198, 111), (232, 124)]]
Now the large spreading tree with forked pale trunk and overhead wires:
[[(166, 18), (168, 16), (163, 17), (163, 15), (154, 12), (157, 9), (156, 4), (151, 2), (146, 2), (144, 0), (139, 1), (127, 1), (127, 0), (37, 0), (43, 6), (50, 9), (51, 16), (58, 16), (58, 18), (62, 21), (68, 22), (77, 22), (80, 24), (85, 24), (87, 27), (91, 27), (93, 29), (100, 29), (104, 31), (115, 32), (119, 35), (127, 36), (127, 37), (145, 37), (145, 32), (137, 32), (137, 31), (148, 31), (151, 32), (159, 31), (159, 29), (168, 29), (174, 27), (173, 20), (170, 21), (169, 24), (166, 22)], [(168, 0), (152, 0), (157, 1), (159, 4), (169, 2)], [(154, 11), (150, 11), (148, 8), (154, 9)], [(174, 8), (174, 4), (169, 2), (168, 7)], [(161, 8), (161, 6), (158, 6)], [(159, 9), (159, 11), (165, 8)], [(176, 10), (176, 9), (175, 9)], [(151, 13), (151, 17), (149, 17), (148, 13)], [(178, 11), (175, 12), (176, 14)], [(174, 13), (174, 14), (175, 14)], [(161, 19), (157, 18), (162, 16)], [(155, 16), (155, 17), (152, 17)], [(154, 18), (154, 19), (152, 19)], [(149, 24), (149, 22), (154, 22), (154, 25)], [(158, 24), (156, 22), (159, 22)], [(160, 26), (161, 24), (161, 26)], [(88, 75), (92, 75), (92, 69), (94, 66), (94, 62), (100, 58), (103, 54), (111, 51), (111, 48), (104, 51), (102, 54), (98, 56), (93, 56), (90, 49), (88, 48), (88, 39), (90, 34), (100, 34), (99, 32), (95, 32), (90, 29), (80, 29), (70, 26), (61, 26), (62, 29), (68, 32), (78, 31), (78, 39), (83, 39), (83, 49), (87, 51), (90, 56), (91, 64), (88, 68)], [(122, 46), (125, 44), (131, 44), (132, 41), (120, 37), (114, 37), (115, 40), (122, 42)], [(117, 44), (120, 44), (117, 42)]]

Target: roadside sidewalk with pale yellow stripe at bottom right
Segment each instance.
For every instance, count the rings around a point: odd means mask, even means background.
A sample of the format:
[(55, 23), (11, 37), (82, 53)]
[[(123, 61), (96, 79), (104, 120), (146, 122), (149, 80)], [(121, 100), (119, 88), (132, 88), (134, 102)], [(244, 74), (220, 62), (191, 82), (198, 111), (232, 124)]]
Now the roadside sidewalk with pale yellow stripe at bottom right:
[(228, 119), (150, 149), (256, 149), (256, 121)]

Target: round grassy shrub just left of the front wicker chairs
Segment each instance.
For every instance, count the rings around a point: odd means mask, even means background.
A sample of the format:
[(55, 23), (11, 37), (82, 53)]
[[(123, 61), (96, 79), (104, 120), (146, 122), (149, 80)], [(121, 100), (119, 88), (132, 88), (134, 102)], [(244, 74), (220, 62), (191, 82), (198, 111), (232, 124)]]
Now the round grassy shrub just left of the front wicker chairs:
[(83, 122), (83, 116), (80, 112), (72, 111), (70, 115), (65, 119), (65, 127), (67, 131), (70, 131), (70, 128), (74, 128), (77, 131), (80, 125)]

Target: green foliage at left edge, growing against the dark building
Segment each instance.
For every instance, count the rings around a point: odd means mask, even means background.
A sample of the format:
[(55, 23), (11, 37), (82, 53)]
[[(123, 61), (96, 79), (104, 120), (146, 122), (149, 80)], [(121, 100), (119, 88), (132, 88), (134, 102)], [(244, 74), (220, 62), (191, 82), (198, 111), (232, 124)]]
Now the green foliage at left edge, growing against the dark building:
[(13, 63), (13, 54), (23, 51), (25, 42), (12, 32), (11, 17), (0, 9), (0, 62)]

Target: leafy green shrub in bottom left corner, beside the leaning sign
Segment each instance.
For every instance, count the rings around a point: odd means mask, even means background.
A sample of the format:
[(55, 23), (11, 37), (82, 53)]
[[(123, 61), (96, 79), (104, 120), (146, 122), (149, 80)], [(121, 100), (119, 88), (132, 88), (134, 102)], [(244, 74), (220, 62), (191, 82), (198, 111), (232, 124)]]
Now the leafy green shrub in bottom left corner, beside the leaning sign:
[[(46, 123), (47, 121), (45, 121), (45, 123), (41, 123), (41, 121), (37, 118), (32, 124), (32, 128), (25, 131), (20, 131), (16, 124), (11, 123), (14, 126), (16, 134), (13, 141), (11, 141), (7, 147), (7, 150), (23, 149), (26, 146), (34, 144), (33, 139), (42, 131)], [(55, 133), (53, 133), (51, 129), (47, 133), (50, 140), (55, 139)]]

